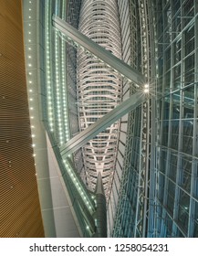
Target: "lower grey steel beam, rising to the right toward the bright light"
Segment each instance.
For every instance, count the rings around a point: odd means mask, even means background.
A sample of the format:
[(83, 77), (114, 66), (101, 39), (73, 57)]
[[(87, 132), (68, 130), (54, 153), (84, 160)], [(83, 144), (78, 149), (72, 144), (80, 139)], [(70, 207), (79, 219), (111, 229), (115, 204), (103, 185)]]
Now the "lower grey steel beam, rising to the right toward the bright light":
[(143, 101), (145, 101), (146, 94), (143, 92), (136, 92), (126, 101), (120, 103), (115, 109), (101, 117), (96, 123), (91, 124), (83, 132), (78, 133), (73, 137), (67, 144), (60, 147), (60, 154), (64, 157), (75, 152), (88, 143), (89, 140), (93, 139), (100, 132), (104, 131), (112, 123), (118, 121), (123, 115), (134, 110), (139, 106)]

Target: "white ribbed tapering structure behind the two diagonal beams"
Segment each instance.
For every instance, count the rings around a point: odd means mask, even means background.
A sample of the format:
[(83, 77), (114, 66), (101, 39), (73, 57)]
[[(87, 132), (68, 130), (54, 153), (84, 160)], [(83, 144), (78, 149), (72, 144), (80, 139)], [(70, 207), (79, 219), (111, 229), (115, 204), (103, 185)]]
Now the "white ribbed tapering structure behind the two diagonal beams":
[[(82, 1), (78, 29), (121, 59), (116, 0)], [(77, 71), (78, 116), (83, 131), (120, 103), (122, 90), (120, 76), (99, 59), (85, 54), (82, 48), (78, 49)], [(112, 124), (83, 148), (89, 188), (94, 190), (97, 173), (101, 172), (107, 197), (115, 170), (119, 128), (119, 122)]]

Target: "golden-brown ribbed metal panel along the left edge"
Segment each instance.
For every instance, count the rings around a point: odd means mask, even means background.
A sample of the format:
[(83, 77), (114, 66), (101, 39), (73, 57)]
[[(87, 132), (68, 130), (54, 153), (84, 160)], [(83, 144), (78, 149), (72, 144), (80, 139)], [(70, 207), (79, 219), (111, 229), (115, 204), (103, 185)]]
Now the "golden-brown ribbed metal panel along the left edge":
[(0, 237), (43, 237), (29, 112), (21, 1), (0, 0)]

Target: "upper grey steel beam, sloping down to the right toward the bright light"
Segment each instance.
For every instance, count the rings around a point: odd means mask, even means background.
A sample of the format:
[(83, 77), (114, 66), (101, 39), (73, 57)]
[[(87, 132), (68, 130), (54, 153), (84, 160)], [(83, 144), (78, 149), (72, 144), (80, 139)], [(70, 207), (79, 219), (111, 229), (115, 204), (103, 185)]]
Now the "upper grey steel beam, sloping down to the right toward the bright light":
[(145, 77), (139, 71), (132, 69), (123, 60), (115, 57), (105, 48), (100, 47), (99, 44), (80, 33), (75, 27), (72, 27), (66, 21), (55, 15), (52, 17), (52, 21), (53, 26), (56, 27), (57, 30), (63, 33), (66, 37), (71, 38), (81, 47), (86, 48), (89, 52), (107, 63), (111, 68), (120, 72), (124, 77), (139, 86), (142, 86), (146, 82)]

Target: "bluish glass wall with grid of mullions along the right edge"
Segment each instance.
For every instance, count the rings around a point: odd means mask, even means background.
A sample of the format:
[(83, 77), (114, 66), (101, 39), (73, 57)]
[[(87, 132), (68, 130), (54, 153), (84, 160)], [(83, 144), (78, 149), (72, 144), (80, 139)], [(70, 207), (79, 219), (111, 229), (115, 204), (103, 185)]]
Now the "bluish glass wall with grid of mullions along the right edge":
[(157, 8), (161, 106), (158, 235), (197, 237), (198, 4), (162, 1)]

